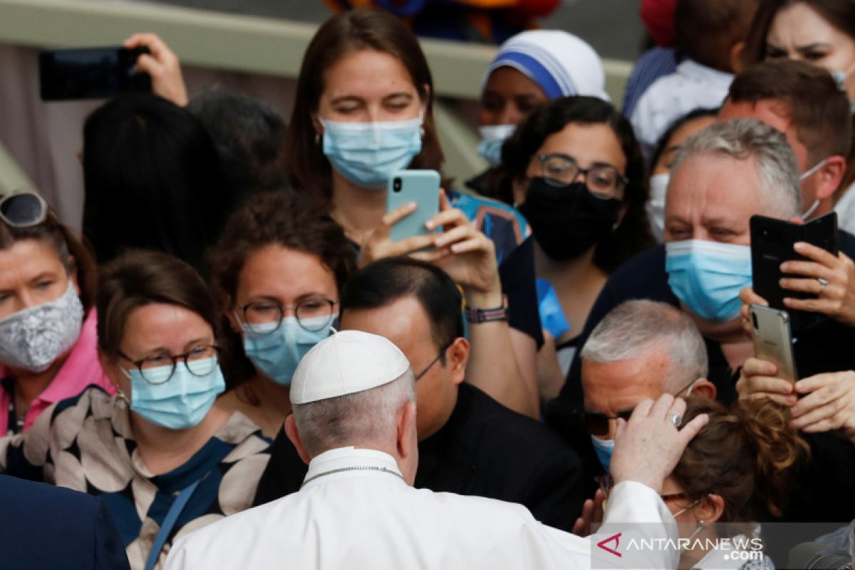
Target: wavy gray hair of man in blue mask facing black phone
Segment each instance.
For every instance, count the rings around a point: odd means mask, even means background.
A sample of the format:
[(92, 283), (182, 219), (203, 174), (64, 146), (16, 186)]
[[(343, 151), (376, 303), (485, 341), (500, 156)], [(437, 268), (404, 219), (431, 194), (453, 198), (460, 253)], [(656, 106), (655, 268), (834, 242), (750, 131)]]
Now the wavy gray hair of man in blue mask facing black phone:
[(703, 155), (752, 160), (764, 213), (782, 218), (801, 214), (799, 162), (782, 132), (757, 119), (714, 123), (687, 138), (675, 156), (671, 173), (689, 158)]

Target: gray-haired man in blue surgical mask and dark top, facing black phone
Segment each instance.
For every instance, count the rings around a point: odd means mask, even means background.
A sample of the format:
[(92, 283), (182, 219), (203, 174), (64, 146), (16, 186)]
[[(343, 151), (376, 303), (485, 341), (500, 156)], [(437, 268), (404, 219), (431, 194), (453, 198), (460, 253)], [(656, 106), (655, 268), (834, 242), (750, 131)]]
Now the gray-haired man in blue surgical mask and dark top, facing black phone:
[[(680, 308), (698, 326), (709, 358), (707, 378), (723, 403), (736, 399), (739, 367), (753, 355), (741, 326), (740, 291), (752, 285), (752, 215), (793, 220), (802, 211), (799, 169), (784, 134), (755, 119), (706, 127), (689, 138), (675, 158), (665, 203), (665, 244), (627, 261), (610, 278), (588, 316), (581, 345), (606, 314), (630, 299), (651, 299)], [(800, 374), (851, 368), (852, 351), (829, 354), (836, 337), (852, 329), (836, 321), (799, 332)], [(579, 359), (547, 422), (572, 439), (587, 394)], [(855, 363), (852, 363), (855, 364)]]

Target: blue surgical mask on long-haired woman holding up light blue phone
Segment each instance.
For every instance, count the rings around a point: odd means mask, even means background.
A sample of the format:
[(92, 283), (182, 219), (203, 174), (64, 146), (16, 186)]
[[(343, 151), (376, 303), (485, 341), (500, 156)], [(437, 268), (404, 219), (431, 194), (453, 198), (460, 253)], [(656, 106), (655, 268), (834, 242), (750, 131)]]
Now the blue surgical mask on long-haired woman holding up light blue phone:
[(346, 179), (382, 190), (397, 170), (422, 152), (422, 116), (410, 120), (346, 122), (318, 117), (323, 153)]

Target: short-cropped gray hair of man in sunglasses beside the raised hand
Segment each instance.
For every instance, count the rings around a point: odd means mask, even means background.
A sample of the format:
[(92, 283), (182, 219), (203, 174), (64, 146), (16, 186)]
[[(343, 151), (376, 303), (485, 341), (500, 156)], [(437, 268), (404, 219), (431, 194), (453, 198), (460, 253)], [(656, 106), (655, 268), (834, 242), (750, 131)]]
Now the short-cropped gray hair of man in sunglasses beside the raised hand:
[(679, 391), (694, 379), (706, 378), (706, 346), (692, 319), (669, 304), (646, 299), (626, 301), (606, 314), (580, 356), (610, 363), (633, 360), (655, 349), (663, 350), (669, 360), (665, 391)]

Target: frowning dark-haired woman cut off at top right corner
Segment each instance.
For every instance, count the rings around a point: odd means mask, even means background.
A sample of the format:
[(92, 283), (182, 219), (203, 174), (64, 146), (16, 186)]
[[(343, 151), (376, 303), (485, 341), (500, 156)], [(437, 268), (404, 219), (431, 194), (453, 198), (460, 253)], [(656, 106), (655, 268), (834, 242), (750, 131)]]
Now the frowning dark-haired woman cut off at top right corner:
[[(746, 65), (788, 58), (832, 73), (855, 113), (855, 2), (852, 0), (763, 0), (746, 38)], [(852, 117), (855, 126), (855, 115)], [(840, 227), (855, 231), (855, 128), (846, 173), (834, 210)]]

